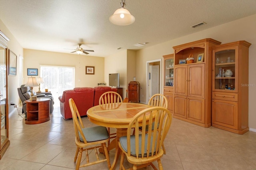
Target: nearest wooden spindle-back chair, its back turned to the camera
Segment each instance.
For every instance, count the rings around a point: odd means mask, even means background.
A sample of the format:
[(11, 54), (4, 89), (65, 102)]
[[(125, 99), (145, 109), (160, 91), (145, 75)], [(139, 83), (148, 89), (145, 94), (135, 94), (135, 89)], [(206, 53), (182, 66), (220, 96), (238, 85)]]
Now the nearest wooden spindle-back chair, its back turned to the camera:
[[(156, 122), (154, 126), (152, 126), (153, 122)], [(133, 164), (130, 169), (137, 170), (151, 165), (157, 170), (152, 163), (157, 161), (159, 170), (163, 170), (160, 160), (164, 154), (162, 145), (171, 123), (172, 114), (164, 107), (149, 107), (137, 113), (128, 125), (127, 136), (120, 137), (118, 143), (122, 150), (120, 169), (125, 170), (124, 156), (126, 156), (128, 162)], [(132, 128), (135, 129), (134, 135), (131, 134)]]

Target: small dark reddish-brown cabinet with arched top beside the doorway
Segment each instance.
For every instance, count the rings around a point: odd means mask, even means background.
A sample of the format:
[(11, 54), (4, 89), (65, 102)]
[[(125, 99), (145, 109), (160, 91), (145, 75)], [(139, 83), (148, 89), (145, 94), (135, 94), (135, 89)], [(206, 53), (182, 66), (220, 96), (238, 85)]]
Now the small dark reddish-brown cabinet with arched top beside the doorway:
[(140, 103), (140, 83), (132, 81), (128, 85), (128, 99), (132, 103)]

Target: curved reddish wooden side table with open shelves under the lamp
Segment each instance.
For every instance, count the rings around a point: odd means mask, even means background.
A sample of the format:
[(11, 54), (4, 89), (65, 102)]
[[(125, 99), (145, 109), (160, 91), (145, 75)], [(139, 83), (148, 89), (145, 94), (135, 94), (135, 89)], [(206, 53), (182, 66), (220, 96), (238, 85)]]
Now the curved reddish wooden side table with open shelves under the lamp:
[(35, 101), (26, 100), (27, 118), (26, 124), (38, 124), (50, 120), (50, 99), (38, 98)]

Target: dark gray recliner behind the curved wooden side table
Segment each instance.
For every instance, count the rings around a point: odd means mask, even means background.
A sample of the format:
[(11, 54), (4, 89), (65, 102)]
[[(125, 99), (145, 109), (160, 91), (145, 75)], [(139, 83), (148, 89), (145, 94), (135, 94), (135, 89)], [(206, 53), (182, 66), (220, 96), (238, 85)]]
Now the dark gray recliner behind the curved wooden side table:
[[(25, 87), (25, 84), (22, 84), (20, 88), (18, 88), (18, 94), (20, 96), (20, 100), (22, 102), (22, 113), (26, 114), (27, 104), (25, 103), (31, 97), (30, 87)], [(42, 93), (35, 93), (33, 92), (34, 96), (38, 98), (49, 98), (50, 99), (50, 114), (53, 111), (54, 99), (50, 92), (42, 92)]]

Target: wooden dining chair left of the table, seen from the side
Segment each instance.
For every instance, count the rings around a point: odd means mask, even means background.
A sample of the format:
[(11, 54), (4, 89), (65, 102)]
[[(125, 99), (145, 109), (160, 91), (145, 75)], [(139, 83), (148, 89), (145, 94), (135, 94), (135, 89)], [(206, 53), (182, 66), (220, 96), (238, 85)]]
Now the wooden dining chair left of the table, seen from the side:
[[(74, 162), (76, 162), (76, 170), (79, 170), (81, 167), (90, 166), (94, 164), (98, 164), (104, 161), (107, 161), (108, 168), (111, 167), (109, 155), (108, 155), (108, 149), (106, 147), (106, 143), (109, 141), (109, 134), (106, 129), (106, 127), (102, 126), (96, 126), (96, 127), (84, 127), (84, 124), (82, 122), (82, 119), (80, 117), (80, 114), (78, 112), (78, 109), (76, 107), (76, 104), (72, 98), (68, 100), (70, 110), (72, 113), (73, 123), (74, 123), (74, 129), (75, 129), (75, 142), (76, 142), (76, 155), (74, 158)], [(104, 155), (106, 156), (106, 159), (101, 159), (98, 156), (97, 148), (102, 147), (104, 150)], [(94, 150), (96, 154), (96, 161), (90, 162), (89, 161), (89, 155), (88, 150)], [(86, 164), (81, 163), (82, 159), (82, 152), (86, 152)], [(79, 155), (78, 155), (79, 153)]]

